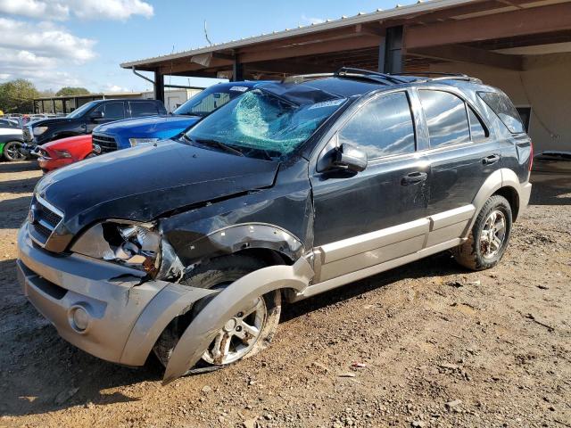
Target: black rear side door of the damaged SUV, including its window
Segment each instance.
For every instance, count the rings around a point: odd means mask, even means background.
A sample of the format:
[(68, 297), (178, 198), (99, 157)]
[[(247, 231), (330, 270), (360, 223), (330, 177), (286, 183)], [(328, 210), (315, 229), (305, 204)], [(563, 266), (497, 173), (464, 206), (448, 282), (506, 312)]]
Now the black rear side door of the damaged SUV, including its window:
[(418, 97), (430, 144), (428, 215), (466, 207), (485, 179), (501, 168), (500, 147), (481, 113), (459, 93), (418, 88)]

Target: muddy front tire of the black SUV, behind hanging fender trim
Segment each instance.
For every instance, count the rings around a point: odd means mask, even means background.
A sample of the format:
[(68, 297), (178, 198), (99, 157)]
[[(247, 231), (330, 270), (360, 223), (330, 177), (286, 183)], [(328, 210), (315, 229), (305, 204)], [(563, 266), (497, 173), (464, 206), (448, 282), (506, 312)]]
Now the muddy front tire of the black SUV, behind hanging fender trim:
[[(195, 268), (192, 272), (192, 276), (183, 279), (180, 284), (207, 289), (224, 288), (228, 284), (240, 279), (242, 276), (247, 275), (254, 270), (265, 268), (266, 266), (267, 265), (261, 260), (244, 255), (232, 255), (219, 259), (212, 259), (209, 263)], [(172, 351), (177, 345), (180, 336), (185, 332), (186, 327), (198, 312), (206, 306), (208, 301), (210, 301), (210, 299), (205, 298), (196, 302), (193, 308), (189, 309), (183, 316), (176, 317), (172, 320), (170, 325), (168, 325), (161, 333), (161, 336), (153, 347), (153, 351), (157, 358), (159, 358), (159, 361), (161, 361), (162, 366), (167, 366), (170, 356), (172, 355)], [(247, 350), (247, 353), (236, 360), (223, 362), (216, 358), (205, 358), (205, 352), (203, 358), (199, 363), (197, 363), (195, 368), (196, 370), (203, 371), (222, 368), (244, 358), (250, 358), (269, 346), (269, 343), (272, 341), (273, 336), (276, 333), (277, 324), (279, 323), (279, 316), (281, 313), (281, 292), (277, 290), (276, 292), (264, 294), (261, 296), (260, 304), (265, 308), (264, 310), (266, 315), (263, 319), (261, 328), (259, 329), (260, 334), (252, 344), (252, 347)], [(256, 316), (256, 319), (258, 319), (258, 316)], [(216, 339), (211, 343), (209, 350), (216, 344), (215, 342)], [(190, 372), (193, 371), (194, 370), (190, 370)]]

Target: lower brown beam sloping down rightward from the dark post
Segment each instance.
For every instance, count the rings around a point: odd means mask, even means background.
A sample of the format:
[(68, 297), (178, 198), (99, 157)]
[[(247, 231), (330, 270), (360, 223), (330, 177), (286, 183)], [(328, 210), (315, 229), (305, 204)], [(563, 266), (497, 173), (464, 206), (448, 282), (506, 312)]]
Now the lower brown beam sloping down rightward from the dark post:
[(407, 55), (451, 62), (472, 62), (508, 70), (524, 70), (524, 59), (520, 55), (495, 53), (467, 45), (443, 45), (408, 49)]

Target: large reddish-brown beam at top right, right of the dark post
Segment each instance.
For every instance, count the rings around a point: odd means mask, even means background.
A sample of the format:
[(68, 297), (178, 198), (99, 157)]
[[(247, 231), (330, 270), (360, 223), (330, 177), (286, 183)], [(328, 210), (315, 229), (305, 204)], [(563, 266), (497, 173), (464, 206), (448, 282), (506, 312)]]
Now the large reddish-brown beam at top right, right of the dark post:
[(571, 3), (407, 27), (406, 49), (452, 45), (571, 29)]

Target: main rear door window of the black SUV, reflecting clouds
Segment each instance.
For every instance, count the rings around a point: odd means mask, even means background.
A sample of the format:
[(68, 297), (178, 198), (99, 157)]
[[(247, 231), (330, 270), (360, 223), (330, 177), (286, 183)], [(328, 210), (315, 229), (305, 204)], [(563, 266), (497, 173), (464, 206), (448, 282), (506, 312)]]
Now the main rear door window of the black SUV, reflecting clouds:
[(425, 111), (430, 147), (470, 141), (464, 101), (443, 91), (420, 90), (418, 95)]

